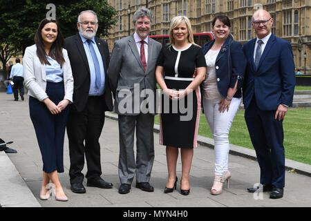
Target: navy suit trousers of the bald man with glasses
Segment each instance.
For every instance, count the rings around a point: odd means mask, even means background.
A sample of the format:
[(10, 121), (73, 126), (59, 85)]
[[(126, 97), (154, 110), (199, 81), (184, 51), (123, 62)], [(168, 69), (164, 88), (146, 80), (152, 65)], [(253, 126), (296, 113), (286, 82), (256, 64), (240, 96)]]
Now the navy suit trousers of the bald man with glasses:
[(274, 119), (276, 111), (261, 111), (255, 98), (245, 110), (245, 122), (261, 168), (261, 184), (285, 186), (283, 120)]

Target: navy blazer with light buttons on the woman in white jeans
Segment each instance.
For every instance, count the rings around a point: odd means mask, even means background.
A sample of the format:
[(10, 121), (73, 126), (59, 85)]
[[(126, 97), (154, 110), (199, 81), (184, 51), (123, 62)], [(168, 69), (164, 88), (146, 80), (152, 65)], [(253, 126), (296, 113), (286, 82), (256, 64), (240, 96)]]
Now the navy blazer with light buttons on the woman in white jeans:
[[(203, 46), (204, 55), (213, 46), (215, 40), (207, 42)], [(241, 87), (243, 86), (246, 67), (246, 58), (243, 53), (242, 45), (234, 41), (232, 37), (227, 37), (225, 43), (220, 48), (216, 58), (216, 80), (218, 91), (221, 96), (227, 97), (228, 88), (234, 88), (238, 80), (238, 90), (234, 97), (241, 97)]]

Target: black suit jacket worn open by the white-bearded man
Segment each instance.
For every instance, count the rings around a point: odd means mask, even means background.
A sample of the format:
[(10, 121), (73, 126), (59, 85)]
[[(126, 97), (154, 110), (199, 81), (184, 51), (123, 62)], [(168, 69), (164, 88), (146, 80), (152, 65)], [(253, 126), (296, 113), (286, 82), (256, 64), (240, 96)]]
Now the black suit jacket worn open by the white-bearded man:
[[(95, 37), (95, 42), (100, 54), (102, 55), (102, 61), (105, 70), (105, 90), (104, 100), (106, 104), (105, 111), (112, 111), (113, 102), (111, 95), (111, 88), (109, 86), (107, 77), (107, 68), (109, 66), (109, 48), (108, 44), (102, 39)], [(79, 35), (73, 35), (65, 39), (65, 47), (68, 51), (68, 57), (70, 59), (71, 69), (73, 70), (74, 90), (73, 90), (73, 105), (70, 108), (75, 107), (77, 112), (84, 110), (88, 101), (88, 92), (90, 90), (91, 77), (90, 68), (88, 66), (88, 59), (82, 39)]]

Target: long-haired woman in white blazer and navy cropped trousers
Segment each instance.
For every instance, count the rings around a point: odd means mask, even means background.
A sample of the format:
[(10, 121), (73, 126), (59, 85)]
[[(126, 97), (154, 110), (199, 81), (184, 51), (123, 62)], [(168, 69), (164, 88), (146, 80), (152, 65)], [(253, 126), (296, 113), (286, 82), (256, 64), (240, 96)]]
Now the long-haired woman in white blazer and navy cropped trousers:
[(23, 57), (30, 118), (43, 161), (41, 200), (50, 198), (50, 181), (56, 200), (68, 200), (58, 178), (58, 173), (64, 172), (64, 134), (68, 104), (73, 101), (73, 75), (63, 46), (57, 21), (44, 19), (37, 29), (35, 45), (26, 48)]

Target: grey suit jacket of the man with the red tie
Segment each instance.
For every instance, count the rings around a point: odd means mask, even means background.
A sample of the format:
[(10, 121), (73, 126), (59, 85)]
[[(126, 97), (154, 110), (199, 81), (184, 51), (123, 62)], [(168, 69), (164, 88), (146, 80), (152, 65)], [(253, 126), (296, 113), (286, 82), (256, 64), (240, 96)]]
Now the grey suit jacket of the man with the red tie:
[(145, 71), (133, 35), (115, 41), (108, 68), (115, 113), (156, 115), (156, 62), (161, 48), (158, 41), (148, 39)]

